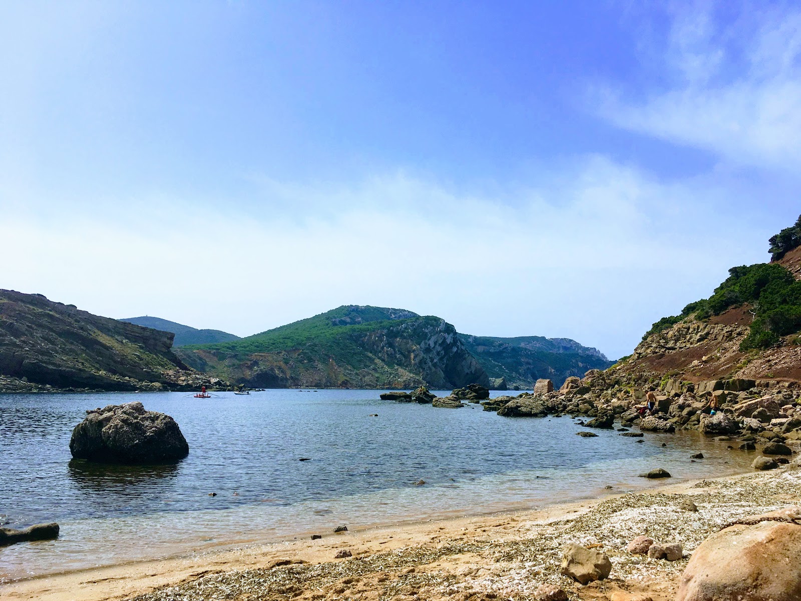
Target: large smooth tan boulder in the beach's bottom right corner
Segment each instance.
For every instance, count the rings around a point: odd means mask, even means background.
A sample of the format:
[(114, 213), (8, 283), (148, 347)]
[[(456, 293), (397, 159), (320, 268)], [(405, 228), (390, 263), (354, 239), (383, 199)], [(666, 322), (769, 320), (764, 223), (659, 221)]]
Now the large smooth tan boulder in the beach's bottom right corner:
[(754, 516), (712, 534), (693, 552), (676, 601), (801, 599), (801, 508)]

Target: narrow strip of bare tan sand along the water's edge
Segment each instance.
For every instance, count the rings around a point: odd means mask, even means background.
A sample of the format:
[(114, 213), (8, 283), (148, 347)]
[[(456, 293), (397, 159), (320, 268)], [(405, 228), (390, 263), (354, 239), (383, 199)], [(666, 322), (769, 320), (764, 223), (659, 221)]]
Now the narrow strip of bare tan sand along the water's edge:
[[(307, 568), (332, 566), (333, 564), (344, 565), (344, 563), (351, 563), (354, 560), (358, 561), (362, 558), (387, 553), (403, 555), (404, 550), (419, 550), (431, 547), (432, 544), (436, 549), (441, 549), (454, 543), (489, 542), (484, 539), (491, 540), (492, 535), (497, 534), (502, 534), (503, 539), (509, 543), (519, 543), (522, 538), (521, 534), (525, 534), (532, 527), (554, 522), (569, 524), (575, 522), (577, 518), (598, 510), (601, 506), (614, 505), (626, 498), (646, 498), (647, 500), (649, 497), (664, 498), (677, 494), (686, 495), (697, 489), (699, 483), (718, 482), (724, 487), (736, 487), (737, 482), (743, 478), (771, 482), (783, 478), (784, 474), (795, 474), (795, 472), (784, 469), (765, 473), (742, 473), (706, 480), (664, 482), (636, 492), (608, 494), (598, 498), (555, 503), (536, 510), (512, 509), (459, 518), (370, 526), (351, 530), (344, 534), (327, 534), (315, 541), (293, 540), (284, 543), (203, 551), (166, 559), (119, 563), (108, 567), (17, 579), (0, 585), (0, 592), (8, 599), (19, 600), (101, 601), (102, 599), (120, 599), (130, 595), (142, 595), (158, 587), (190, 586), (195, 579), (224, 575), (231, 571), (269, 570), (271, 566), (275, 566), (276, 562), (281, 560), (302, 560), (304, 563), (296, 565)], [(801, 474), (796, 475), (801, 478)], [(740, 505), (740, 510), (743, 510), (742, 502)], [(756, 502), (752, 502), (751, 505), (760, 508), (764, 506)], [(719, 506), (713, 507), (712, 513), (718, 516), (722, 515)], [(753, 513), (753, 511), (747, 510), (746, 513)], [(488, 531), (492, 535), (488, 536), (486, 534)], [(591, 534), (589, 531), (586, 532), (586, 535)], [(348, 549), (352, 552), (353, 557), (351, 559), (334, 559), (333, 556), (340, 549)], [(674, 567), (673, 564), (670, 564), (670, 567)], [(293, 568), (298, 569), (290, 565), (273, 567), (272, 571)], [(467, 575), (465, 575), (465, 579), (469, 579)], [(654, 601), (656, 601), (655, 598)]]

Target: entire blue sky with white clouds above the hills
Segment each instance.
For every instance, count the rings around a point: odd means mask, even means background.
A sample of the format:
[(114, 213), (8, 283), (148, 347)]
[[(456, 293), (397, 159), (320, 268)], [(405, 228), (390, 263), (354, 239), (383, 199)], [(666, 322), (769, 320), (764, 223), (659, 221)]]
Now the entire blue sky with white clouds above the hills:
[(801, 10), (6, 2), (0, 287), (247, 335), (343, 304), (610, 357), (801, 212)]

